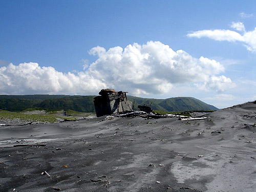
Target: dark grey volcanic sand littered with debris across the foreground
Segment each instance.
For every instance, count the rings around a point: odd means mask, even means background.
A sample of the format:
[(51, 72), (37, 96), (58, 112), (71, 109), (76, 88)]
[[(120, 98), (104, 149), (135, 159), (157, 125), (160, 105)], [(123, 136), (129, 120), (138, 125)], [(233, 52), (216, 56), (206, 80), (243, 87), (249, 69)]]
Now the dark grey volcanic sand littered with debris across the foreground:
[(206, 116), (0, 127), (0, 191), (255, 191), (256, 104)]

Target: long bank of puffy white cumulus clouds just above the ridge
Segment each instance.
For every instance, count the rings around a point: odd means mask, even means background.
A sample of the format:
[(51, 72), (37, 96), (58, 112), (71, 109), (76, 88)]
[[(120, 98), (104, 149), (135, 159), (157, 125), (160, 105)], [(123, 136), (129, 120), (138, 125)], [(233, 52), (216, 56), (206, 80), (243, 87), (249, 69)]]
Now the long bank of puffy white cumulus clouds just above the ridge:
[[(165, 94), (177, 84), (197, 84), (203, 90), (225, 91), (233, 87), (223, 75), (224, 67), (203, 56), (194, 58), (174, 51), (159, 41), (134, 43), (124, 49), (94, 47), (97, 59), (83, 65), (84, 71), (62, 73), (38, 63), (10, 63), (0, 68), (1, 94), (97, 94), (104, 88), (129, 91), (133, 95)], [(196, 87), (196, 86), (195, 86)]]

